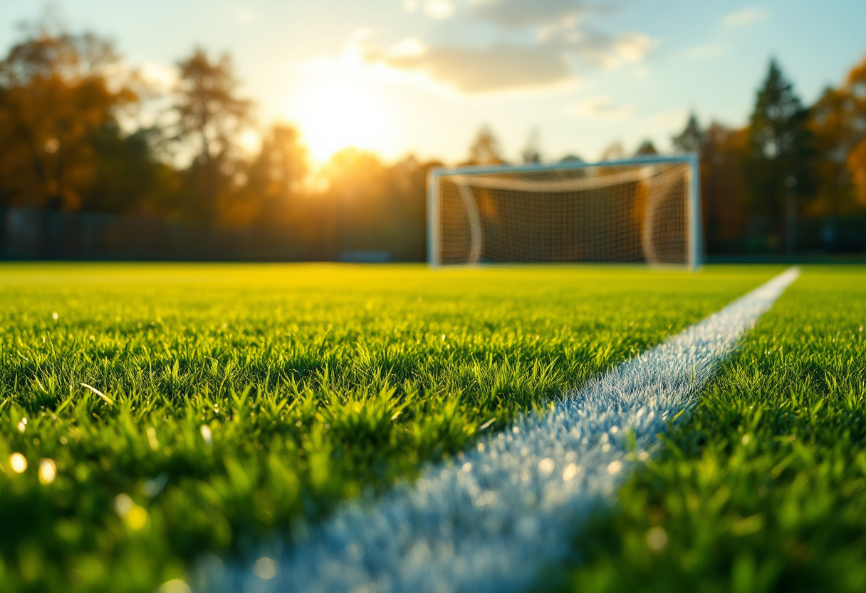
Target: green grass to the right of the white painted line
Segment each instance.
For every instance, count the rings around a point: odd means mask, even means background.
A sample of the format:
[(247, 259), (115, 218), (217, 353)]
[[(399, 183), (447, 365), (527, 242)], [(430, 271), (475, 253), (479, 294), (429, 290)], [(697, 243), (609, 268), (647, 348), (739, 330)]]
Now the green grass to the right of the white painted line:
[(806, 268), (576, 542), (574, 591), (866, 590), (866, 270)]

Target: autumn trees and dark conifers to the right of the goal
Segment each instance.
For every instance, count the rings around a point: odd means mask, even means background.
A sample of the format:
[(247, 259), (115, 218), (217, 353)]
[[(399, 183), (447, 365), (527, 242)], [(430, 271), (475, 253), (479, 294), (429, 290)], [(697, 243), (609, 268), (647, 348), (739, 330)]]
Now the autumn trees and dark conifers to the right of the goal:
[(692, 114), (673, 144), (701, 155), (710, 254), (866, 251), (866, 58), (808, 107), (772, 61), (746, 126)]

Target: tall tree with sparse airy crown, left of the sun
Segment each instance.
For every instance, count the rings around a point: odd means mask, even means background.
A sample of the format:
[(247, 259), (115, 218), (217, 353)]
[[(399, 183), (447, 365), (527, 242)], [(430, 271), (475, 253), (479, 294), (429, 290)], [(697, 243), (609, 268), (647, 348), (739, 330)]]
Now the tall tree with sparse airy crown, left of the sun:
[(251, 103), (237, 96), (239, 82), (228, 55), (211, 62), (204, 49), (195, 49), (178, 68), (175, 139), (197, 154), (189, 172), (197, 214), (213, 220), (221, 186), (234, 173), (230, 159), (238, 134), (249, 124)]

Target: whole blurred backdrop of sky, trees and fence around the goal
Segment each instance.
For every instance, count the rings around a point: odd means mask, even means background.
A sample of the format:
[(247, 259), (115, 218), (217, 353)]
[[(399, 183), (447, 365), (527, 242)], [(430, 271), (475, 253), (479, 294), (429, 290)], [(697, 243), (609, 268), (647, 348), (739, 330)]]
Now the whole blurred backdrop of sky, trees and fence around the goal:
[(431, 166), (701, 155), (710, 262), (866, 259), (866, 2), (0, 3), (0, 258), (423, 261)]

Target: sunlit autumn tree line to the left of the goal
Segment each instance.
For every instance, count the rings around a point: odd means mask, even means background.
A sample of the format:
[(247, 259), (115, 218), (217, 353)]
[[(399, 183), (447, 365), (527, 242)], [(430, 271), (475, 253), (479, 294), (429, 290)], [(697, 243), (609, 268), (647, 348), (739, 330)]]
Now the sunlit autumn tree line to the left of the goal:
[(424, 257), (426, 172), (439, 163), (385, 164), (347, 148), (311, 179), (287, 123), (242, 150), (242, 133), (260, 128), (239, 86), (228, 55), (194, 49), (159, 93), (112, 42), (30, 26), (0, 62), (0, 211), (260, 227), (285, 230), (314, 257)]

